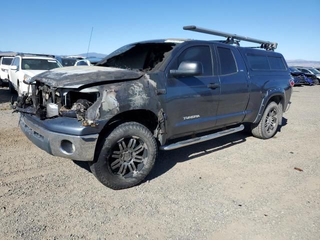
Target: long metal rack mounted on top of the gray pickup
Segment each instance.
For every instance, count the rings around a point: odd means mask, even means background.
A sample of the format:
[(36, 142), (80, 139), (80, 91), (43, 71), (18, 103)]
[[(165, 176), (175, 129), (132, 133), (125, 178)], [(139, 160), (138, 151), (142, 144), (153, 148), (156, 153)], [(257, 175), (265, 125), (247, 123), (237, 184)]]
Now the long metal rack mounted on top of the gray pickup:
[(260, 48), (263, 48), (265, 50), (272, 50), (272, 51), (277, 47), (277, 44), (278, 44), (276, 42), (259, 40), (259, 39), (255, 39), (255, 38), (251, 38), (251, 37), (247, 37), (247, 36), (240, 36), (240, 35), (237, 35), (237, 34), (232, 34), (232, 33), (227, 33), (227, 32), (223, 32), (223, 31), (207, 29), (207, 28), (198, 27), (198, 26), (194, 26), (194, 25), (183, 26), (183, 29), (184, 30), (190, 30), (190, 31), (202, 32), (202, 33), (216, 35), (216, 36), (227, 37), (227, 39), (225, 41), (221, 41), (221, 42), (227, 43), (227, 44), (235, 43), (235, 44), (239, 45), (239, 41), (243, 40), (243, 41), (259, 43), (259, 44), (261, 44)]

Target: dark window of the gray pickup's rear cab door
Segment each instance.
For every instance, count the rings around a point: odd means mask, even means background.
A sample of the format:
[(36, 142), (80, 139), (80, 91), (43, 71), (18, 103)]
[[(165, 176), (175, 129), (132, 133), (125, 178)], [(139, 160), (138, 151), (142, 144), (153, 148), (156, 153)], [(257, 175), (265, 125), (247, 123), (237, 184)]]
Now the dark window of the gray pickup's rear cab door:
[(220, 59), (221, 75), (237, 72), (236, 62), (231, 49), (219, 46), (216, 48)]

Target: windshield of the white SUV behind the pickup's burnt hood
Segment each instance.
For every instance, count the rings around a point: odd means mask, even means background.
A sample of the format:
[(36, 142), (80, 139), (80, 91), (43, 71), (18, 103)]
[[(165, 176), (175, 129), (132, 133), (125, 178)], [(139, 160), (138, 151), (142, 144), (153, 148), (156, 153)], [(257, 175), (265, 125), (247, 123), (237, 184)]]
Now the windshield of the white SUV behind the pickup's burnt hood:
[(22, 58), (23, 70), (50, 70), (61, 65), (54, 59)]

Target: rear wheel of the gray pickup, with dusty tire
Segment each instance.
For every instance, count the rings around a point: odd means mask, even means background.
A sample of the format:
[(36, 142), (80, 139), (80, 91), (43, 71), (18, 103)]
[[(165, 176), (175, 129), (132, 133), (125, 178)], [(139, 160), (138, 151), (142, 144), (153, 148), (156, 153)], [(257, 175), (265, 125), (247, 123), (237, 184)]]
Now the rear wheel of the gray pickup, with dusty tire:
[(262, 117), (258, 123), (252, 123), (251, 133), (253, 136), (268, 139), (275, 135), (279, 123), (282, 122), (282, 104), (269, 102), (265, 107)]

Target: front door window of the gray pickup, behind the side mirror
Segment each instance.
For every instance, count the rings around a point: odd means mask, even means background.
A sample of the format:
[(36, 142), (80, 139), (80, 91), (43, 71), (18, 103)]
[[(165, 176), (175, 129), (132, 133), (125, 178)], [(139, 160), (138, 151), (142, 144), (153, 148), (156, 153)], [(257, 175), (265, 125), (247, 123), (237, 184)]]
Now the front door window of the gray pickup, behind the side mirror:
[(212, 58), (209, 46), (191, 46), (186, 48), (178, 57), (178, 65), (182, 61), (199, 61), (203, 66), (203, 75), (212, 75)]

